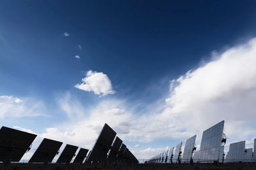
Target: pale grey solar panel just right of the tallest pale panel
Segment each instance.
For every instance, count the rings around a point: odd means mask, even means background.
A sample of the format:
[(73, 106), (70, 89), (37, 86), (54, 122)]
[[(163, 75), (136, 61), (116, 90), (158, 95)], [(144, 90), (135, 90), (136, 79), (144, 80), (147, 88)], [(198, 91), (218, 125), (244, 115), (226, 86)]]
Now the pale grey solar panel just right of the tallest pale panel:
[(231, 143), (225, 162), (243, 162), (245, 141)]

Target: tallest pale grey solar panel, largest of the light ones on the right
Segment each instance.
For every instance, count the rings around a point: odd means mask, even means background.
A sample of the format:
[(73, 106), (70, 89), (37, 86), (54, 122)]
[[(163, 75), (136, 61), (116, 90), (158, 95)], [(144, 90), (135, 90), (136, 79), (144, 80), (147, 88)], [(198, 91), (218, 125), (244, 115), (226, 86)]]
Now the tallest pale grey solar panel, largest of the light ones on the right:
[(199, 150), (199, 162), (212, 162), (220, 160), (221, 139), (223, 136), (224, 120), (203, 132)]

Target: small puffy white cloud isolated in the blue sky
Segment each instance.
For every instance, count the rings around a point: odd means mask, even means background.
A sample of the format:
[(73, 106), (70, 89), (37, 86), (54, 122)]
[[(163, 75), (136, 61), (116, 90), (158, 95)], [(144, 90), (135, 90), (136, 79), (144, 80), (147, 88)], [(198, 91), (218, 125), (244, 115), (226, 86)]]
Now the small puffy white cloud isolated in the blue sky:
[(111, 81), (108, 76), (102, 72), (88, 71), (86, 77), (82, 79), (83, 83), (77, 83), (75, 87), (88, 92), (94, 92), (99, 96), (106, 96), (108, 94), (115, 94), (112, 89)]

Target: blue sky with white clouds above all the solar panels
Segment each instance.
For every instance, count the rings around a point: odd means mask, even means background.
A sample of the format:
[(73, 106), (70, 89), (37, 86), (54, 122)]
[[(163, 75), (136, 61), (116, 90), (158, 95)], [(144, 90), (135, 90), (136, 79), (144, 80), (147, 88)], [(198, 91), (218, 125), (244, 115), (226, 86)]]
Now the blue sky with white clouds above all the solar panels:
[(104, 123), (138, 159), (221, 120), (226, 152), (251, 148), (255, 16), (255, 1), (1, 1), (0, 125), (38, 134), (24, 159), (43, 138), (91, 150)]

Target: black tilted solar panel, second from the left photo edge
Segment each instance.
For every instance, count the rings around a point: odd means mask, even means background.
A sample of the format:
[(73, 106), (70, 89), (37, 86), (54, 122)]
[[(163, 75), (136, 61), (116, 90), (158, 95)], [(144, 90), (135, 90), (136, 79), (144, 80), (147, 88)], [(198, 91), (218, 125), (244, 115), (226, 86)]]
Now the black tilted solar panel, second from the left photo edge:
[(44, 138), (29, 162), (50, 163), (58, 153), (62, 142)]

